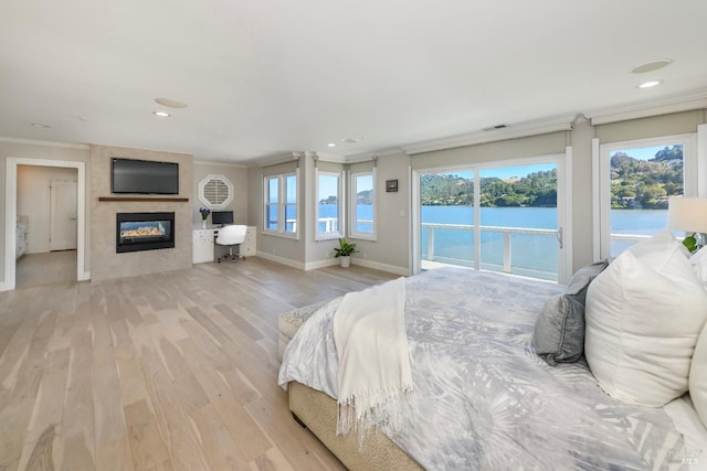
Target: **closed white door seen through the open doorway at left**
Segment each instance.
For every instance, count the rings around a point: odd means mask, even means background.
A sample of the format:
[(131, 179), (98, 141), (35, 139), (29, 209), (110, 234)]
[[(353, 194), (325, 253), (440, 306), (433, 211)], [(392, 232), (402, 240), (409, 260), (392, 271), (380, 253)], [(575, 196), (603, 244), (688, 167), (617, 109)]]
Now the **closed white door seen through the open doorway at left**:
[(76, 182), (52, 181), (50, 250), (76, 249)]

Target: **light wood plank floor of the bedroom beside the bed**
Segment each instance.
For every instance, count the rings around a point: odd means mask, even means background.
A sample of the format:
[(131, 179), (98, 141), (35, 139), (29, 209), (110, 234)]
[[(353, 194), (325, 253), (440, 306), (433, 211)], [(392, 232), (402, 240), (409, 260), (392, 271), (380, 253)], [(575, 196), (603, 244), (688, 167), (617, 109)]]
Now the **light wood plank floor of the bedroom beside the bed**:
[(277, 315), (394, 278), (256, 257), (0, 292), (0, 470), (339, 470), (276, 385)]

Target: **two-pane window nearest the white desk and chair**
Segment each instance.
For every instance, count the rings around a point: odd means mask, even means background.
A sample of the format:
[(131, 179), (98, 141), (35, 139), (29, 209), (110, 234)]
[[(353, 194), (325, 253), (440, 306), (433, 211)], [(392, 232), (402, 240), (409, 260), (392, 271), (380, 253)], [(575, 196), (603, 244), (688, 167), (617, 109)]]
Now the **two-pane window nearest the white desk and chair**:
[(273, 235), (297, 236), (297, 174), (264, 178), (263, 231)]

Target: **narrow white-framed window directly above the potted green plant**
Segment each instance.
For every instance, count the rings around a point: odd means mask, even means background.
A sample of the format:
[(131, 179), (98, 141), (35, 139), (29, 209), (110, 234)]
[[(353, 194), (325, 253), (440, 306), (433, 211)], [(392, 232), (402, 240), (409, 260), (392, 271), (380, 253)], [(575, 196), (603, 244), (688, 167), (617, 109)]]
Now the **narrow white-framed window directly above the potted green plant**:
[(355, 238), (376, 239), (376, 169), (351, 173), (351, 229)]

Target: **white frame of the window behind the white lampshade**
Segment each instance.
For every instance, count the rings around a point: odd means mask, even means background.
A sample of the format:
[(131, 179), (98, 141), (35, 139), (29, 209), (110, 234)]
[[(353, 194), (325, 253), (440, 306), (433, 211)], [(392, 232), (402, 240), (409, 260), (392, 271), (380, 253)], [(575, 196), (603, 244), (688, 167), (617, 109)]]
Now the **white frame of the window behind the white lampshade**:
[(611, 154), (619, 150), (644, 147), (683, 146), (683, 184), (685, 196), (699, 192), (697, 136), (694, 132), (601, 143), (592, 140), (594, 205), (594, 260), (611, 257)]

